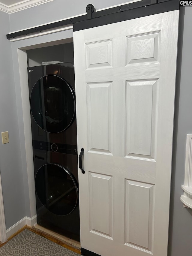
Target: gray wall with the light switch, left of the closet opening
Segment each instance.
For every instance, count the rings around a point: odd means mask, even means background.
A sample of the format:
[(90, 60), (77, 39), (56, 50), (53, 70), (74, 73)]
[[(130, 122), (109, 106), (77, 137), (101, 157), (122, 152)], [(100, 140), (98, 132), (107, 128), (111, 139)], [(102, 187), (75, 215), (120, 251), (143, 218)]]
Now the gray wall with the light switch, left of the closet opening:
[(26, 216), (20, 138), (13, 77), (11, 44), (6, 39), (9, 15), (0, 12), (0, 133), (9, 132), (9, 143), (0, 137), (0, 171), (6, 228)]

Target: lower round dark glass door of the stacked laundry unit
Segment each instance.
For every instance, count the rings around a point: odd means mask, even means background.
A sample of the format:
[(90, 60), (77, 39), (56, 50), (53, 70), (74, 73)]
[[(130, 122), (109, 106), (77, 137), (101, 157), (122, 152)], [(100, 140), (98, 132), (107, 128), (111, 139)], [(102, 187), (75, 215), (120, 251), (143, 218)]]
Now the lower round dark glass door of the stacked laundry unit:
[(78, 203), (73, 175), (58, 164), (45, 164), (35, 176), (35, 190), (42, 205), (57, 215), (71, 213)]

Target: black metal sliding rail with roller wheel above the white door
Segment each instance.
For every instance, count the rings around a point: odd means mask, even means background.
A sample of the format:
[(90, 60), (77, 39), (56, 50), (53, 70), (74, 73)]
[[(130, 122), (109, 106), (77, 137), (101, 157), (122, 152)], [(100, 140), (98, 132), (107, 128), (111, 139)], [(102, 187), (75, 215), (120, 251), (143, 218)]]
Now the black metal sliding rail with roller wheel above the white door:
[(73, 31), (78, 31), (178, 9), (178, 0), (142, 0), (97, 12), (95, 11), (95, 7), (92, 4), (89, 4), (86, 7), (87, 14), (85, 15), (56, 21), (31, 29), (24, 29), (18, 32), (7, 34), (6, 36), (7, 39), (10, 39), (32, 33), (38, 33), (48, 29), (55, 29), (70, 24), (73, 24)]

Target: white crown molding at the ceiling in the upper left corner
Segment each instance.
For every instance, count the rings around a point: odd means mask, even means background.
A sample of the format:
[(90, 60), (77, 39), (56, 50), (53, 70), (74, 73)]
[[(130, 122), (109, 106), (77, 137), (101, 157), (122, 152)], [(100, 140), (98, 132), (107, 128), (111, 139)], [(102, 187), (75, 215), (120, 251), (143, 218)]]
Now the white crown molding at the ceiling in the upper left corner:
[(18, 2), (13, 5), (4, 5), (0, 2), (0, 11), (6, 12), (8, 14), (12, 14), (14, 12), (22, 11), (34, 6), (42, 5), (47, 2), (52, 2), (54, 0), (24, 0), (21, 2)]

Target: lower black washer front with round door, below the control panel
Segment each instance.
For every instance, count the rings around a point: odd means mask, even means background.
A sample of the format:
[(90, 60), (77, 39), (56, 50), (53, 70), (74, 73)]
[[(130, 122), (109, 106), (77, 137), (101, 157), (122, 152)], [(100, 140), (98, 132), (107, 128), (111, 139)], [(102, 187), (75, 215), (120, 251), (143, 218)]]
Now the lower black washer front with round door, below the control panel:
[(37, 222), (80, 241), (77, 157), (33, 149)]

